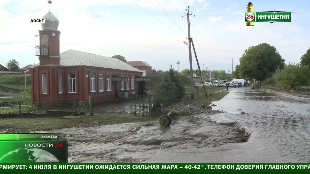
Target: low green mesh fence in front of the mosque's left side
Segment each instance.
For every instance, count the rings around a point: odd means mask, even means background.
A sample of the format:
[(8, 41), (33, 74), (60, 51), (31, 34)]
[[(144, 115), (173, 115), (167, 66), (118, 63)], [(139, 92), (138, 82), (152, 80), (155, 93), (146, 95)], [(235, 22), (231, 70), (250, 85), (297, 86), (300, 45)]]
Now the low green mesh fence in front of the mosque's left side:
[[(71, 99), (49, 99), (46, 102), (20, 102), (0, 101), (0, 114), (46, 113), (47, 111), (72, 111), (73, 115), (86, 115), (90, 113), (91, 102)], [(92, 113), (90, 113), (91, 115)]]

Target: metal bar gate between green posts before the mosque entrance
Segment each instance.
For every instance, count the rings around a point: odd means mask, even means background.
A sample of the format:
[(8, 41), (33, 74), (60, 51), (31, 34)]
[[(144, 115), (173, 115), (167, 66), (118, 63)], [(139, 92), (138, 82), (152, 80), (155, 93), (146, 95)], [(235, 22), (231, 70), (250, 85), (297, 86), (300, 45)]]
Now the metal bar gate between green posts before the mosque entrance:
[(135, 95), (129, 97), (130, 115), (140, 117), (151, 117), (152, 97)]

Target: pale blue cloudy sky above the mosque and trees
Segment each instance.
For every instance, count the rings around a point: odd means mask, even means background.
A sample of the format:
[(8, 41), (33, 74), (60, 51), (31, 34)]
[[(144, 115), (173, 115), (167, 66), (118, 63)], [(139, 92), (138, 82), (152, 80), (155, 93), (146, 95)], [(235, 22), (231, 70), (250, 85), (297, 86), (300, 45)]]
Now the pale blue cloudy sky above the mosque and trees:
[[(52, 0), (60, 21), (60, 53), (79, 50), (103, 56), (120, 54), (127, 61), (145, 61), (156, 70), (169, 65), (189, 69), (187, 6), (190, 31), (201, 69), (231, 72), (244, 50), (259, 43), (277, 48), (286, 63), (298, 63), (310, 47), (310, 1), (252, 0), (254, 11), (294, 11), (291, 22), (255, 22), (246, 26), (249, 0)], [(138, 6), (139, 5), (139, 6)], [(16, 59), (20, 67), (39, 63), (41, 19), (47, 0), (0, 1), (0, 64)], [(231, 58), (234, 58), (233, 60)], [(193, 69), (197, 68), (192, 51)]]

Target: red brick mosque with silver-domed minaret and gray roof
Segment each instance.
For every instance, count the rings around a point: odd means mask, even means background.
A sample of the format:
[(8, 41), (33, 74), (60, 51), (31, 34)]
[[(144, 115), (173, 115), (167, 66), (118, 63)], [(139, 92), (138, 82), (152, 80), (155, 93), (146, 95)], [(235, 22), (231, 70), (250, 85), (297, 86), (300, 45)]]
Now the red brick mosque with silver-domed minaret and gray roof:
[(40, 63), (30, 67), (32, 101), (76, 99), (92, 102), (127, 98), (131, 92), (142, 93), (148, 77), (119, 59), (68, 50), (60, 54), (59, 21), (51, 13), (39, 30), (40, 45), (35, 55)]

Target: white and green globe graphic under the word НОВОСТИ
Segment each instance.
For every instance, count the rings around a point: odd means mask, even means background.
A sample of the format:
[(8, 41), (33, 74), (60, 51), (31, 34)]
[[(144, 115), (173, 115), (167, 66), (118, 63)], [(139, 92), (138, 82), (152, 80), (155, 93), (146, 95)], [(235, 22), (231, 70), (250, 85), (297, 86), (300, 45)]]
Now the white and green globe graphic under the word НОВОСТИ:
[(0, 158), (0, 163), (59, 163), (50, 152), (38, 148), (26, 147), (12, 150)]

